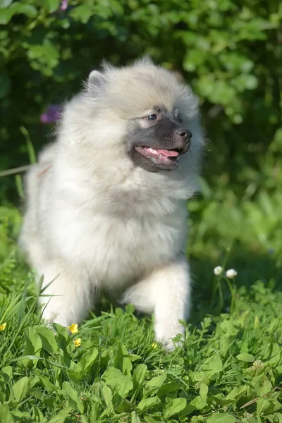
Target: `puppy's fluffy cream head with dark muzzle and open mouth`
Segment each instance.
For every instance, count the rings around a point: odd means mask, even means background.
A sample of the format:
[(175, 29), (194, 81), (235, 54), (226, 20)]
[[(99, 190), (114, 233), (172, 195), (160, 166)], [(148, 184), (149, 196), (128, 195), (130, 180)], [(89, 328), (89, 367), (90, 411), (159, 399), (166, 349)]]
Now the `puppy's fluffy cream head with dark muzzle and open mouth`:
[(106, 63), (90, 73), (80, 99), (87, 121), (75, 101), (75, 116), (83, 116), (78, 136), (104, 159), (111, 154), (112, 164), (118, 157), (149, 172), (175, 171), (190, 157), (186, 166), (195, 167), (202, 144), (197, 98), (173, 73), (149, 59), (123, 68)]

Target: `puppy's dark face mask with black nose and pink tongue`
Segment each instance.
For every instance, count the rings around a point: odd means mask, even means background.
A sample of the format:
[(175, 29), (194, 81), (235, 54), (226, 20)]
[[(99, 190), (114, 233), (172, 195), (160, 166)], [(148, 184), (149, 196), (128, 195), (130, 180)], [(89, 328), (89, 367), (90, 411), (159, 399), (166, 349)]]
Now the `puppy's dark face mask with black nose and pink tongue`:
[(180, 154), (188, 152), (191, 137), (177, 109), (168, 112), (155, 106), (145, 116), (128, 121), (128, 155), (146, 171), (173, 171)]

